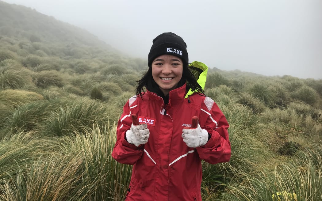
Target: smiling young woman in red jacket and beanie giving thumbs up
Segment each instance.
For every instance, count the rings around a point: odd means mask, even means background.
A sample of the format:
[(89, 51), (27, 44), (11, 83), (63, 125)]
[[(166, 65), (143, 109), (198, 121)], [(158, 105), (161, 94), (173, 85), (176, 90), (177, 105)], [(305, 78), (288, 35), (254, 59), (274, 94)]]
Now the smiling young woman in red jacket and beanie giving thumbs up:
[(153, 40), (149, 69), (118, 121), (112, 157), (133, 165), (127, 201), (200, 201), (201, 160), (216, 164), (230, 159), (229, 124), (203, 94), (207, 67), (193, 62), (196, 79), (186, 47), (171, 32)]

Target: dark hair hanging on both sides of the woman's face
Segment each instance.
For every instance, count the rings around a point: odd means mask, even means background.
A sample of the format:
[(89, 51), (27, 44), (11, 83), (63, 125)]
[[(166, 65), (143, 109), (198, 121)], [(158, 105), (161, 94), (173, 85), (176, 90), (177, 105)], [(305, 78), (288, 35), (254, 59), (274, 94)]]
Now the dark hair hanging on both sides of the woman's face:
[[(194, 77), (193, 73), (191, 72), (190, 68), (188, 67), (188, 63), (183, 61), (183, 71), (182, 71), (182, 78), (179, 81), (184, 81), (187, 83), (186, 89), (189, 90), (190, 88), (192, 91), (199, 92), (204, 94), (203, 88), (198, 84), (197, 79)], [(142, 96), (143, 87), (147, 87), (147, 84), (149, 82), (152, 82), (152, 68), (149, 68), (147, 72), (143, 75), (143, 77), (137, 81), (137, 87), (136, 87), (136, 95)]]

